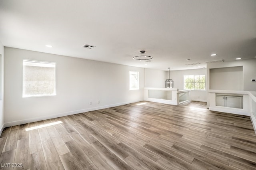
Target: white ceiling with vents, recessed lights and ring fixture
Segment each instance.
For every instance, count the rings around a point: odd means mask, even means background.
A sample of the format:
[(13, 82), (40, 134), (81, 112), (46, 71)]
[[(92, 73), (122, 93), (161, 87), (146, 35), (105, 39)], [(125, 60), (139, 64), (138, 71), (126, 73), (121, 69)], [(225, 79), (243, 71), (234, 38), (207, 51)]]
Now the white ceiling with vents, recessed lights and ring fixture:
[[(136, 67), (202, 68), (256, 56), (256, 0), (0, 0), (0, 41)], [(152, 61), (134, 60), (140, 50)]]

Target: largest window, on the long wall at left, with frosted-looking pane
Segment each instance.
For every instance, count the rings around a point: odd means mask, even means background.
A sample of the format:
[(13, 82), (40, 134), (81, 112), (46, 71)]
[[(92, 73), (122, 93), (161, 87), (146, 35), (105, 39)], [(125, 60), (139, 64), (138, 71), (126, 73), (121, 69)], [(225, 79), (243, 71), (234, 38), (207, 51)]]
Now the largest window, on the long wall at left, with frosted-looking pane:
[(23, 60), (22, 97), (56, 95), (56, 63)]

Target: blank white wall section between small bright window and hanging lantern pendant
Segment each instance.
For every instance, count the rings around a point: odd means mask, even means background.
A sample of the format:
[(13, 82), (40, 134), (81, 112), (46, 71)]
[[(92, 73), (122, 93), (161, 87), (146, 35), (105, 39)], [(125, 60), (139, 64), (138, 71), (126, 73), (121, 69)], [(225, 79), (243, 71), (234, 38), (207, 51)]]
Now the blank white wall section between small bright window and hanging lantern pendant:
[(145, 69), (145, 87), (164, 88), (166, 79), (166, 71)]

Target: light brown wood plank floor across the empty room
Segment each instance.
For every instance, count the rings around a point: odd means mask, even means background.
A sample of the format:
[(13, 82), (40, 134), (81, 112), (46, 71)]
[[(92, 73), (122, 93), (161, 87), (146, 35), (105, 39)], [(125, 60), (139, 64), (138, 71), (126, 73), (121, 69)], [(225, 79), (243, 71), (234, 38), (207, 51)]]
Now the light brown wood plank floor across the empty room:
[(0, 168), (256, 169), (250, 117), (212, 112), (202, 102), (140, 103), (5, 128)]

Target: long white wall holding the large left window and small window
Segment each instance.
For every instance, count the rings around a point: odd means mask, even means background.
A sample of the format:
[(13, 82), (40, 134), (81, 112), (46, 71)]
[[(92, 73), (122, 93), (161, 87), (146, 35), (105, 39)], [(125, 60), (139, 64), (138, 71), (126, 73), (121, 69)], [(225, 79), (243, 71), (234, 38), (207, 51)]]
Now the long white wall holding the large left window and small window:
[[(143, 68), (10, 47), (5, 47), (4, 53), (5, 126), (123, 105), (144, 99)], [(56, 96), (22, 98), (22, 59), (57, 63)], [(129, 71), (139, 71), (139, 90), (129, 90)], [(92, 105), (89, 105), (90, 101)]]

